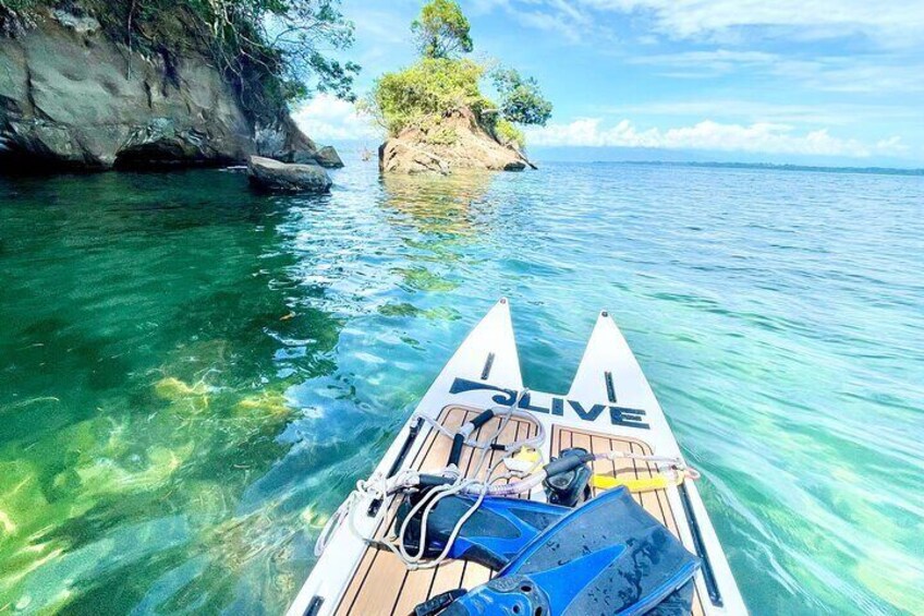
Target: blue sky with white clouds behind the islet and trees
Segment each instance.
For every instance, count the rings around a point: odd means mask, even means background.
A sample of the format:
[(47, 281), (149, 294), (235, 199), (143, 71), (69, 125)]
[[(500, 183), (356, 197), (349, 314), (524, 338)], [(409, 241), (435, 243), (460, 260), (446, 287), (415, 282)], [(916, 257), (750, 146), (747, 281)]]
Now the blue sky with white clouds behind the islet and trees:
[[(422, 3), (343, 0), (360, 94), (414, 61), (409, 25)], [(924, 167), (922, 0), (460, 4), (474, 58), (535, 76), (555, 106), (545, 128), (527, 130), (531, 152)], [(329, 96), (295, 118), (320, 142), (381, 136)]]

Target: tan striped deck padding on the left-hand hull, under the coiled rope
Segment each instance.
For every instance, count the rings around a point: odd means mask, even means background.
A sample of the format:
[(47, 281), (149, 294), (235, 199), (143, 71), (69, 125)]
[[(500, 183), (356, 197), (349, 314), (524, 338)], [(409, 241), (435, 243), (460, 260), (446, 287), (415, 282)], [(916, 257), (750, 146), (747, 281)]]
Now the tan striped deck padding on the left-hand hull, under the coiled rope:
[[(481, 411), (464, 407), (449, 407), (443, 410), (440, 420), (446, 427), (454, 428)], [(499, 427), (499, 420), (494, 420), (475, 433), (476, 438), (487, 438)], [(533, 423), (511, 420), (504, 431), (495, 439), (496, 443), (513, 443), (532, 436), (537, 426)], [(482, 436), (484, 435), (484, 436)], [(439, 470), (446, 466), (449, 457), (450, 440), (446, 436), (430, 432), (409, 468), (418, 470)], [(477, 456), (473, 460), (473, 449), (465, 447), (462, 451), (460, 469), (469, 476), (475, 471)], [(485, 471), (490, 464), (500, 459), (500, 451), (491, 451), (485, 464)], [(481, 473), (484, 475), (483, 473)], [(389, 531), (393, 523), (394, 507), (386, 516), (387, 523), (379, 528), (380, 536)], [(491, 570), (476, 565), (454, 560), (445, 563), (435, 569), (409, 571), (399, 558), (388, 549), (369, 547), (363, 555), (353, 580), (346, 589), (337, 614), (396, 615), (405, 616), (413, 612), (414, 606), (441, 592), (457, 588), (472, 588), (490, 579)]]

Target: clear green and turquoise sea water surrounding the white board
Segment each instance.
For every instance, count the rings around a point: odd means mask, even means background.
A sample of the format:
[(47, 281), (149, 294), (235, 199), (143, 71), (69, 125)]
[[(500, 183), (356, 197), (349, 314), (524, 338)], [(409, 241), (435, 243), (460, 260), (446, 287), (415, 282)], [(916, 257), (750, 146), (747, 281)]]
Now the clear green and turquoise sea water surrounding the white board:
[(924, 613), (924, 178), (0, 180), (0, 614), (278, 613), (465, 333), (608, 307), (755, 614)]

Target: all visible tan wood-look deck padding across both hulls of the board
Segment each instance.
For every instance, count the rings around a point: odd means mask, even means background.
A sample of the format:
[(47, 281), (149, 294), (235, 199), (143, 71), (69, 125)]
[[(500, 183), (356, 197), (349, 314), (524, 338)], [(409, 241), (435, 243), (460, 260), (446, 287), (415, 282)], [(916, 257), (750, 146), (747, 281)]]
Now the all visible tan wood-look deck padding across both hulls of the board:
[[(481, 411), (467, 407), (451, 406), (443, 409), (440, 414), (442, 425), (453, 430), (476, 416)], [(500, 420), (491, 420), (483, 426), (475, 438), (481, 435), (494, 434), (498, 428)], [(536, 433), (536, 424), (522, 420), (511, 420), (504, 431), (495, 439), (498, 444), (513, 443), (526, 438)], [(573, 430), (556, 425), (551, 435), (551, 455), (557, 456), (561, 449), (569, 447), (583, 447), (592, 452), (601, 451), (629, 451), (633, 454), (648, 455), (651, 447), (645, 443), (632, 438), (609, 436), (593, 432)], [(409, 468), (417, 470), (440, 470), (446, 466), (449, 456), (449, 438), (430, 430), (426, 440), (418, 450)], [(462, 452), (460, 469), (470, 476), (474, 471), (473, 449), (465, 447)], [(489, 454), (488, 463), (485, 468), (500, 459), (500, 451)], [(625, 460), (624, 464), (609, 461), (594, 462), (594, 471), (597, 473), (620, 474), (632, 472), (634, 478), (651, 476), (652, 468), (647, 462)], [(595, 490), (595, 495), (596, 495)], [(525, 495), (524, 495), (525, 497)], [(677, 519), (671, 510), (667, 494), (664, 490), (636, 494), (635, 499), (656, 519), (660, 520), (672, 533), (677, 533)], [(681, 512), (681, 516), (683, 514)], [(394, 520), (394, 508), (386, 516), (386, 523), (379, 528), (378, 535), (390, 531)], [(693, 552), (693, 547), (688, 545)], [(494, 571), (464, 560), (452, 560), (434, 569), (422, 569), (409, 571), (404, 564), (388, 549), (376, 547), (366, 548), (360, 566), (353, 573), (346, 592), (337, 608), (338, 615), (381, 615), (381, 616), (406, 616), (414, 607), (427, 599), (457, 588), (471, 589), (490, 579)], [(702, 615), (703, 604), (698, 592), (693, 600), (693, 614)]]

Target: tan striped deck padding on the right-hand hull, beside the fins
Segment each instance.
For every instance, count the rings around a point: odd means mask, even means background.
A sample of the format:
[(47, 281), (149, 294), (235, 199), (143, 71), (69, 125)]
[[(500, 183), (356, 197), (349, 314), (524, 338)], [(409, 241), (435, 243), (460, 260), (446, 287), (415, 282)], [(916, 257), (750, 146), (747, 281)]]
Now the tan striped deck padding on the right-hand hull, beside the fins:
[[(592, 454), (600, 454), (605, 451), (628, 451), (630, 454), (640, 454), (643, 456), (649, 456), (652, 454), (652, 448), (648, 444), (643, 443), (642, 440), (636, 440), (634, 438), (625, 438), (625, 437), (613, 437), (606, 434), (598, 434), (595, 432), (586, 432), (580, 430), (573, 430), (571, 427), (562, 427), (555, 426), (551, 432), (551, 452), (552, 456), (558, 455), (562, 449), (568, 449), (569, 447), (583, 447), (587, 451)], [(625, 460), (624, 462), (616, 462), (616, 461), (596, 461), (594, 462), (594, 472), (597, 473), (613, 473), (618, 472), (620, 475), (625, 476), (625, 473), (632, 473), (632, 476), (635, 479), (644, 479), (652, 476), (653, 467), (648, 462), (644, 462), (641, 460)], [(599, 491), (594, 488), (594, 496), (597, 495)], [(674, 512), (671, 510), (670, 502), (667, 498), (667, 492), (664, 490), (656, 490), (654, 492), (645, 492), (642, 494), (633, 495), (635, 500), (645, 508), (645, 510), (654, 516), (656, 519), (660, 520), (662, 524), (665, 524), (674, 535), (677, 533), (677, 517)], [(679, 512), (683, 516), (683, 512)], [(695, 548), (692, 545), (688, 545), (686, 548), (695, 554)], [(700, 597), (700, 591), (697, 590), (693, 595), (693, 616), (702, 616), (705, 614), (703, 607), (703, 601)]]

